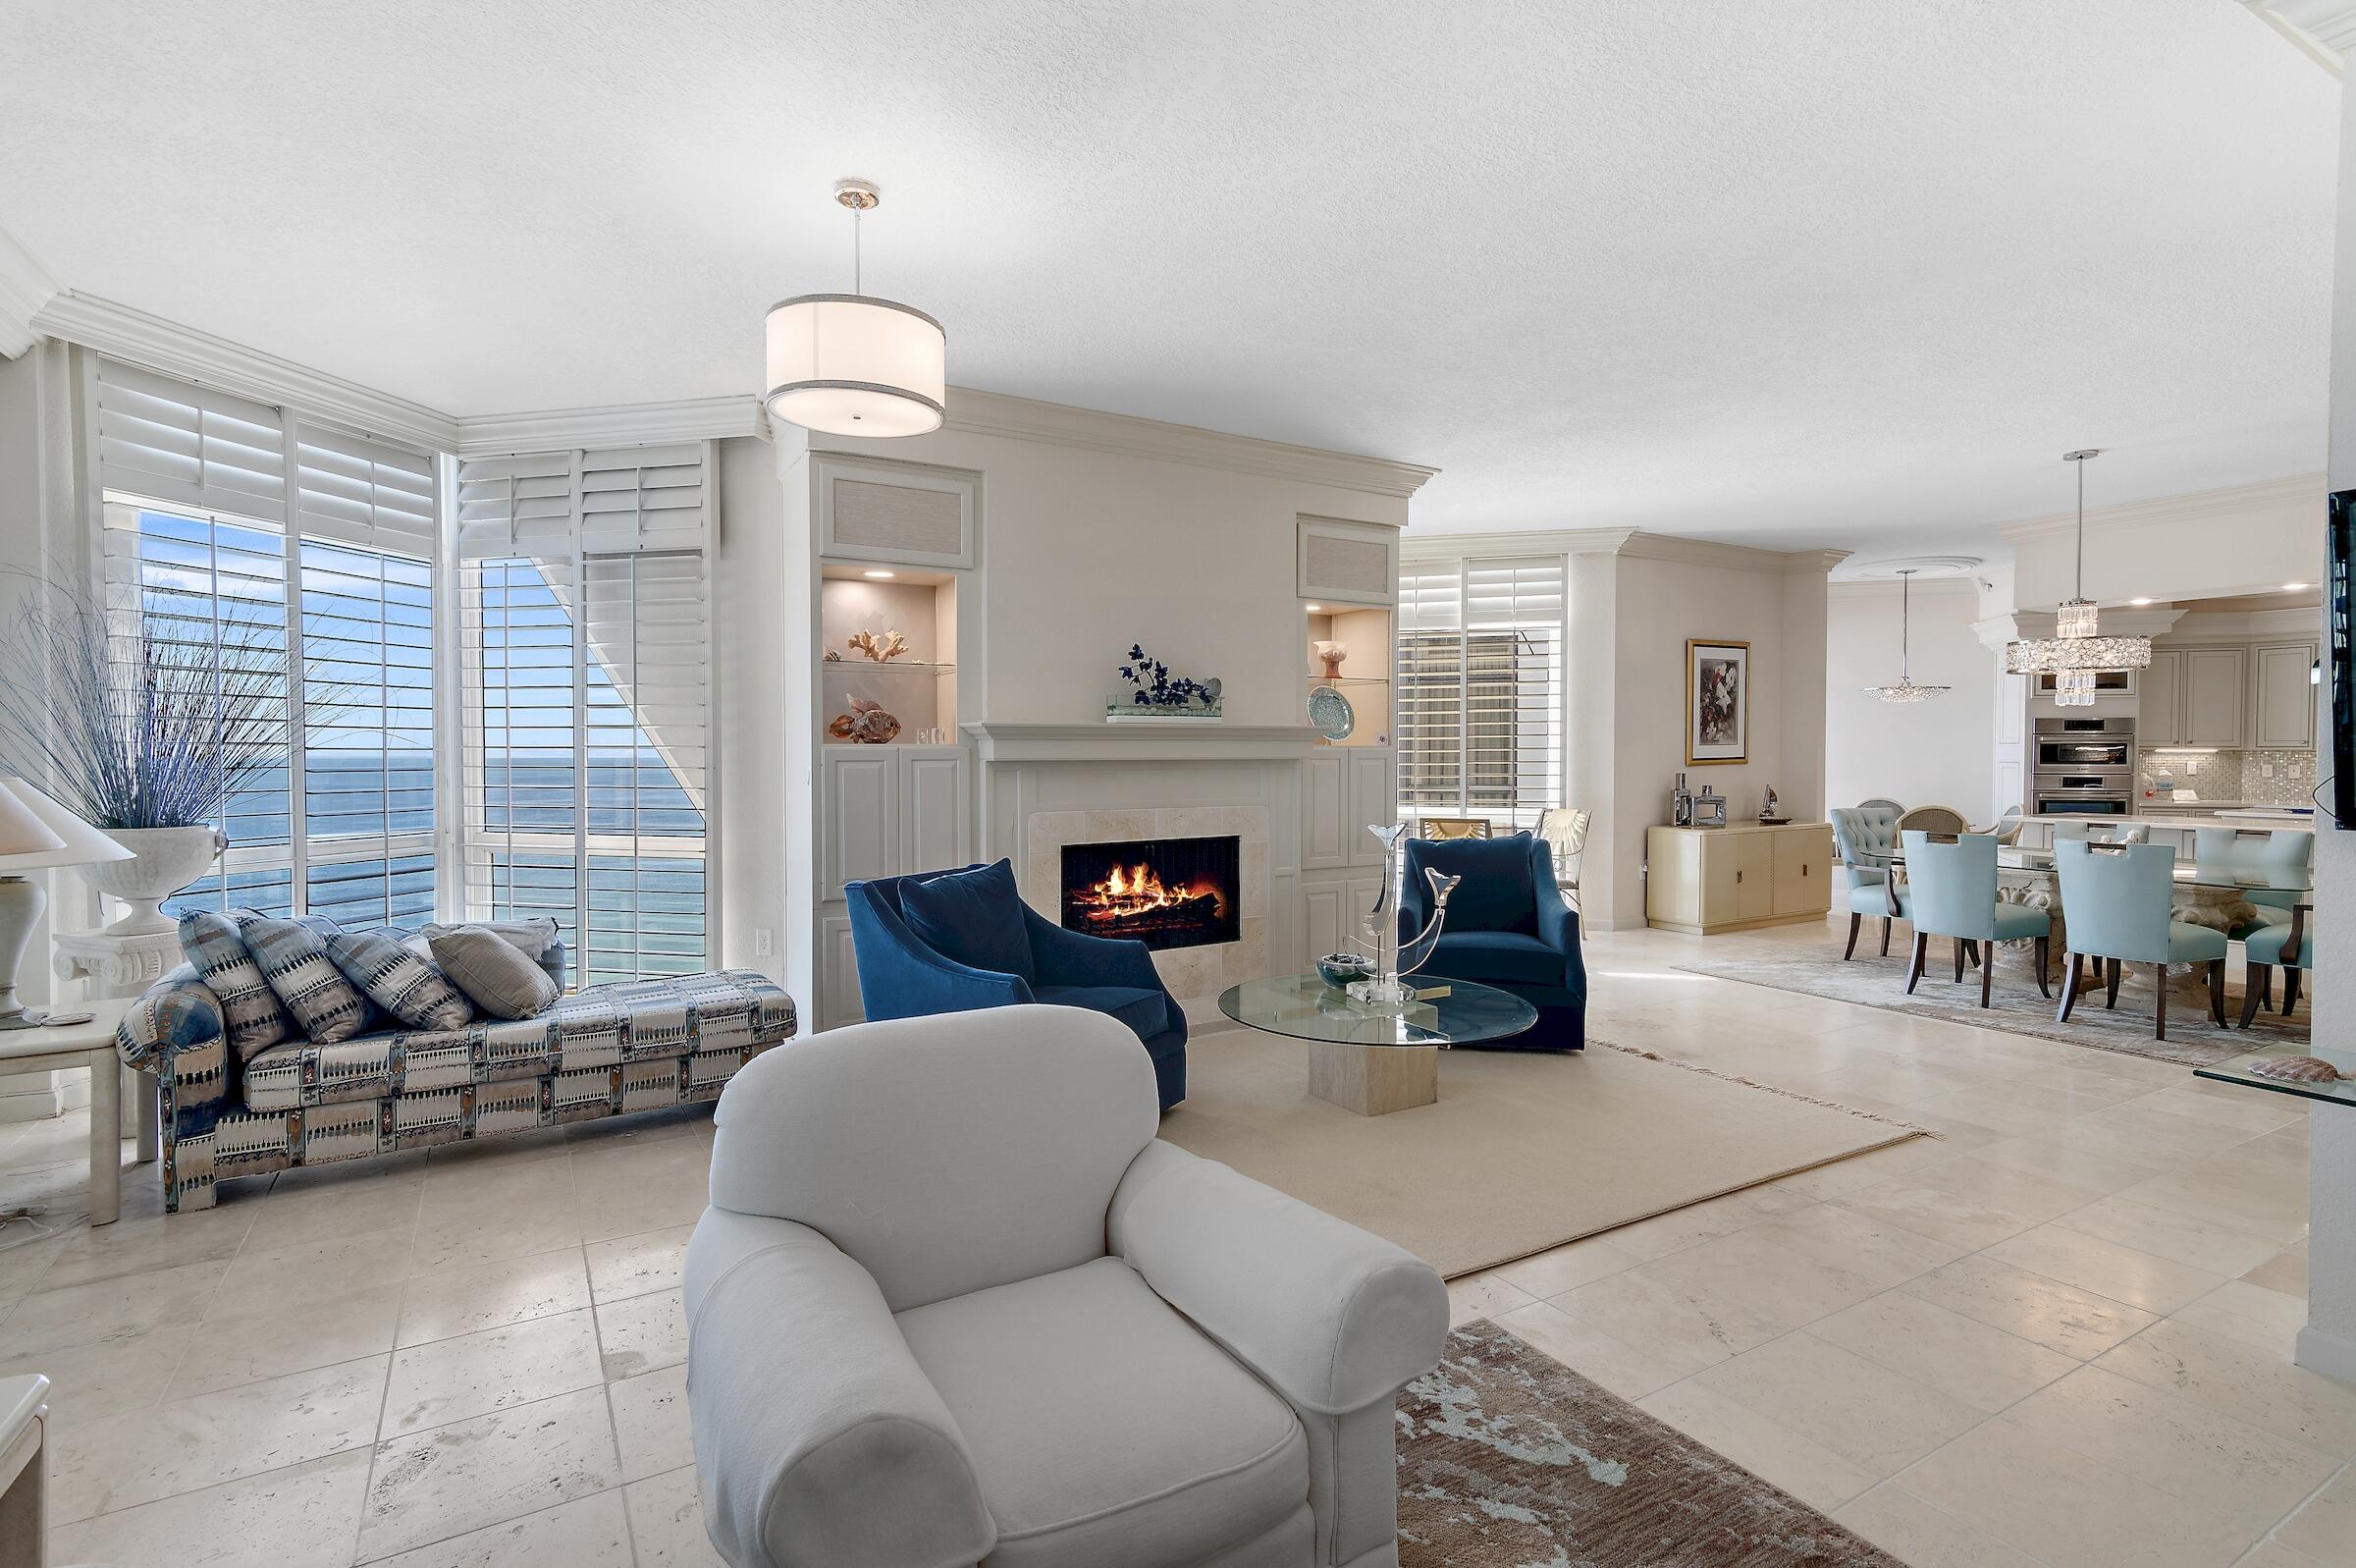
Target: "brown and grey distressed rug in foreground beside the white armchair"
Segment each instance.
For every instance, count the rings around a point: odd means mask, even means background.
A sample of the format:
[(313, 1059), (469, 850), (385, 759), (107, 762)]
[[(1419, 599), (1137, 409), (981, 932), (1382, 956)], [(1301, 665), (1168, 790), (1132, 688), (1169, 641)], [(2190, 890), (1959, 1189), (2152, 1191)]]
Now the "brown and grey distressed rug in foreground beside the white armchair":
[(1494, 1323), (1399, 1394), (1399, 1568), (1906, 1568)]

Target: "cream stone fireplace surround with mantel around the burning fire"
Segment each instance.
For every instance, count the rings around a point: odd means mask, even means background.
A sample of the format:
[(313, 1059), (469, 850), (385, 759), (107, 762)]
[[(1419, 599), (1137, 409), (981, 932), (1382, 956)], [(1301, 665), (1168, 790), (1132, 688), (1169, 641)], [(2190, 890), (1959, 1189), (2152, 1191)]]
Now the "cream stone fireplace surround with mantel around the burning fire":
[(1190, 1021), (1218, 993), (1298, 969), (1301, 764), (1308, 726), (968, 724), (980, 764), (982, 856), (1015, 865), (1023, 898), (1063, 915), (1063, 846), (1119, 839), (1239, 839), (1242, 936), (1166, 948), (1154, 969)]

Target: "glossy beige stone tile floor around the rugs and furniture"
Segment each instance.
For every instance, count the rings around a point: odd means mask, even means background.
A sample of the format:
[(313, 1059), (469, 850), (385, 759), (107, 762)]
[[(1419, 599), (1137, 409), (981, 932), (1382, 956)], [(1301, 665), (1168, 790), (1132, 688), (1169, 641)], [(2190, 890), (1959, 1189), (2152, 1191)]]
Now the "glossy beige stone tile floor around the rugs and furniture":
[[(1701, 943), (1593, 936), (1590, 1030), (1944, 1137), (1470, 1276), (1461, 1316), (1915, 1568), (2356, 1563), (2356, 1391), (2290, 1365), (2297, 1101), (1682, 974)], [(707, 1111), (259, 1177), (170, 1221), (132, 1170), (104, 1231), (80, 1137), (0, 1127), (0, 1207), (54, 1226), (0, 1231), (0, 1372), (57, 1382), (54, 1561), (719, 1561), (676, 1294)]]

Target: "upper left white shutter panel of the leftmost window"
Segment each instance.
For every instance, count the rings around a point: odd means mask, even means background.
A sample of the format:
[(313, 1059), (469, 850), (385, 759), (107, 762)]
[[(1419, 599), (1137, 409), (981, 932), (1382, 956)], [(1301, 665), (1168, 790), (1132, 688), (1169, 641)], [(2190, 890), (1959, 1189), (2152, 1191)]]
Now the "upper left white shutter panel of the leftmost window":
[(285, 523), (285, 422), (276, 408), (101, 358), (97, 431), (106, 490)]

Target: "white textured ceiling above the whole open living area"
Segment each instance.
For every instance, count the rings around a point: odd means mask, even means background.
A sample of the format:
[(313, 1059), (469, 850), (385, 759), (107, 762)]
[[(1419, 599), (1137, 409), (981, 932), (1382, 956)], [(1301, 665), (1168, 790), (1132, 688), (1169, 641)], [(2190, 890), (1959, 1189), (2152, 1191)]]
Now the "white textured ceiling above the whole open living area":
[(2233, 0), (16, 0), (0, 226), (455, 415), (952, 380), (1430, 462), (1418, 528), (2000, 549), (2323, 467), (2337, 85)]

